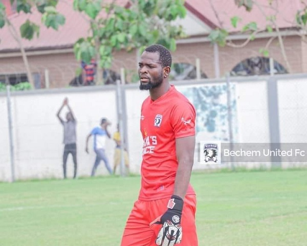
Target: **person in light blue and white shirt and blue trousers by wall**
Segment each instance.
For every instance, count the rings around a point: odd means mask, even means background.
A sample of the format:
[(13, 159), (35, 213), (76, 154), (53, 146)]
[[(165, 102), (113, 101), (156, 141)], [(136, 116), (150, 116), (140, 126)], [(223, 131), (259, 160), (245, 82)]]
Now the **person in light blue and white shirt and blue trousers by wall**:
[(112, 169), (109, 165), (109, 161), (105, 153), (106, 138), (111, 138), (111, 135), (107, 130), (107, 126), (109, 125), (111, 125), (111, 123), (106, 118), (102, 118), (100, 122), (100, 127), (95, 127), (86, 138), (85, 151), (86, 153), (89, 153), (89, 148), (87, 148), (89, 144), (89, 139), (92, 135), (94, 136), (94, 151), (96, 153), (96, 160), (92, 169), (91, 176), (95, 175), (96, 169), (100, 164), (101, 160), (104, 162), (104, 165), (109, 174), (112, 174)]

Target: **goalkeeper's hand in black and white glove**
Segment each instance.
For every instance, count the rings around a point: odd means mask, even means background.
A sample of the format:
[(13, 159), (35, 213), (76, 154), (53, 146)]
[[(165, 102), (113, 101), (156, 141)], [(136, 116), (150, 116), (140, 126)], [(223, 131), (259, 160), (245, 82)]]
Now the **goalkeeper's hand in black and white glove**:
[(162, 224), (158, 233), (156, 244), (161, 246), (173, 246), (180, 243), (182, 239), (181, 214), (183, 209), (183, 199), (177, 195), (172, 195), (168, 201), (167, 211), (152, 224)]

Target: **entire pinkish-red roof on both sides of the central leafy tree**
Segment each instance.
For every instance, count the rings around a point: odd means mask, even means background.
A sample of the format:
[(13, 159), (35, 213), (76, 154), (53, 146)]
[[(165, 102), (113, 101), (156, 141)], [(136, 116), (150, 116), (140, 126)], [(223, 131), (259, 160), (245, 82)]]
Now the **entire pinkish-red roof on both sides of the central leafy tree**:
[[(307, 4), (307, 0), (302, 0)], [(295, 14), (298, 9), (303, 9), (303, 3), (301, 0), (283, 0), (283, 1), (272, 1), (273, 8), (268, 8), (268, 0), (257, 0), (261, 3), (261, 9), (266, 15), (272, 15), (278, 12), (276, 23), (279, 28), (293, 27), (295, 21)], [(128, 0), (117, 0), (119, 5), (127, 5)], [(216, 10), (212, 9), (211, 3)], [(278, 5), (276, 4), (278, 3)], [(266, 4), (266, 6), (264, 6)], [(186, 0), (185, 6), (203, 21), (210, 28), (220, 27), (220, 21), (224, 27), (228, 28), (231, 32), (239, 31), (245, 24), (250, 21), (257, 21), (258, 26), (261, 29), (265, 29), (268, 21), (261, 10), (254, 6), (251, 12), (245, 11), (245, 8), (237, 8), (234, 4), (234, 0)], [(80, 37), (86, 37), (88, 35), (89, 23), (85, 15), (80, 14), (73, 10), (72, 0), (59, 1), (57, 6), (58, 11), (63, 14), (66, 18), (64, 26), (59, 27), (58, 31), (52, 28), (47, 29), (41, 25), (41, 14), (38, 11), (33, 11), (32, 14), (13, 14), (9, 18), (16, 29), (19, 30), (21, 24), (23, 24), (28, 18), (40, 24), (39, 38), (33, 38), (31, 41), (23, 39), (24, 48), (27, 50), (42, 50), (42, 49), (62, 49), (72, 48), (73, 43)], [(238, 28), (232, 28), (230, 24), (230, 18), (233, 16), (240, 16)], [(218, 20), (220, 19), (220, 21)], [(17, 51), (19, 46), (17, 42), (11, 36), (7, 26), (0, 29), (0, 50), (1, 51)]]

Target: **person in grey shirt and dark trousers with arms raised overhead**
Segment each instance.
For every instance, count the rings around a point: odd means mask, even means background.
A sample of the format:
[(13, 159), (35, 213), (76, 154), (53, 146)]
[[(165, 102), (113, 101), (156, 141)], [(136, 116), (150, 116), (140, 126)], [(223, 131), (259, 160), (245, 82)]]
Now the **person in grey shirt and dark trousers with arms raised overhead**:
[[(68, 113), (66, 114), (66, 121), (64, 121), (60, 114), (64, 106), (67, 106)], [(58, 110), (57, 118), (63, 125), (64, 129), (64, 138), (63, 138), (63, 144), (64, 144), (64, 152), (63, 152), (63, 175), (64, 178), (66, 178), (66, 164), (67, 164), (67, 158), (68, 155), (71, 153), (73, 156), (73, 162), (74, 162), (74, 178), (77, 176), (77, 145), (76, 145), (76, 125), (77, 121), (73, 114), (73, 110), (71, 109), (68, 98), (65, 98), (62, 106)]]

